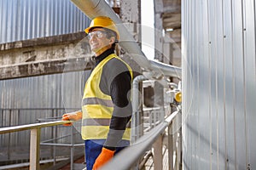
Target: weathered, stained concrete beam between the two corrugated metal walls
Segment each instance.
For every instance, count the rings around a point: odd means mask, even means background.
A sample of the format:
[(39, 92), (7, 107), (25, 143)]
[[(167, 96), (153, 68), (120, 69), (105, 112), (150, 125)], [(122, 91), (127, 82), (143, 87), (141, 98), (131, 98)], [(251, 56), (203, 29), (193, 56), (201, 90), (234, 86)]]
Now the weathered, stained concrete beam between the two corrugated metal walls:
[(90, 69), (85, 33), (0, 44), (0, 79)]

